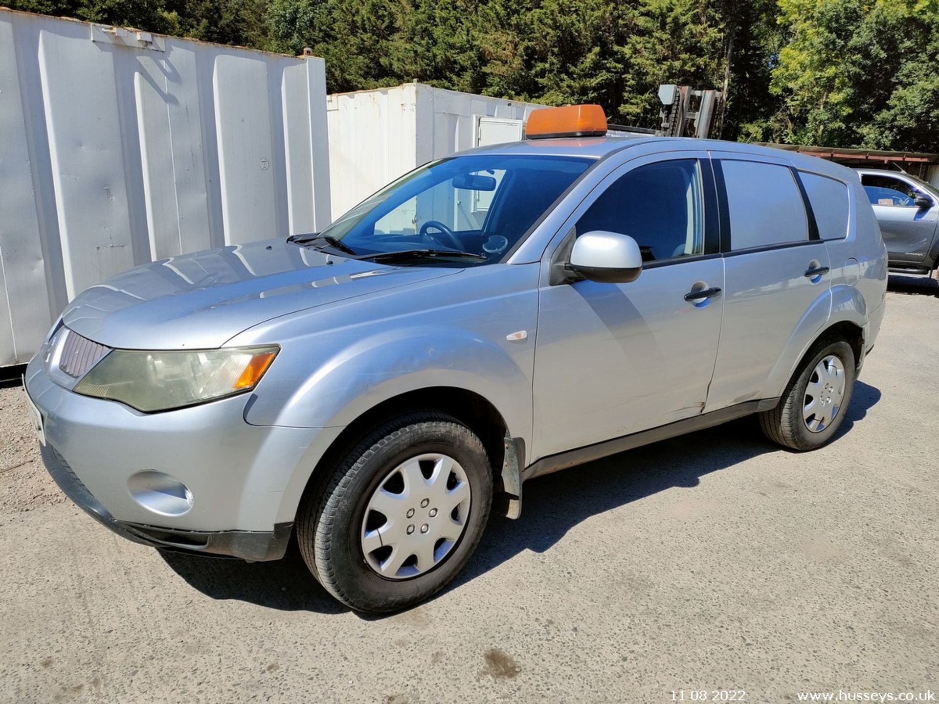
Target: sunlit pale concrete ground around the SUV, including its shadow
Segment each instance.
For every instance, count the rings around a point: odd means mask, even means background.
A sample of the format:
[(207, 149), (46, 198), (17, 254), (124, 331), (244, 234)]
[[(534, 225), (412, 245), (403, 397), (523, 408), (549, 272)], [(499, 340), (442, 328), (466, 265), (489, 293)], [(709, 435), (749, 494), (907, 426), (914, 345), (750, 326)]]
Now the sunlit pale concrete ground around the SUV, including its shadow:
[(625, 701), (939, 689), (939, 287), (892, 277), (839, 437), (737, 421), (525, 486), (430, 603), (101, 528), (0, 390), (0, 700)]

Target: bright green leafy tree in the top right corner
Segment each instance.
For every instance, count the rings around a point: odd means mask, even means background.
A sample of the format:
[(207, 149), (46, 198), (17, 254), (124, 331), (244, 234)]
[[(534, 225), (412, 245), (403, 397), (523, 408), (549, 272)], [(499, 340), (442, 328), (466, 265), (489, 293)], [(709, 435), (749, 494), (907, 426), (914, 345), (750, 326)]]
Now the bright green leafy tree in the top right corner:
[(779, 0), (792, 38), (771, 91), (779, 141), (935, 151), (939, 4)]

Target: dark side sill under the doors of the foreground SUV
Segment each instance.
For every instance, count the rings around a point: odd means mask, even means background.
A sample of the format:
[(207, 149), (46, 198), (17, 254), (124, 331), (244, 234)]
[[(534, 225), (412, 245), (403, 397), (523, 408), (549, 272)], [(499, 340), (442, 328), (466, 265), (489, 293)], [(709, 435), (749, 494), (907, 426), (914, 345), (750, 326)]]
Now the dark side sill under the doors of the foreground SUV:
[(550, 474), (561, 469), (582, 465), (586, 462), (593, 462), (602, 457), (608, 457), (617, 452), (624, 452), (638, 448), (642, 445), (648, 445), (659, 440), (666, 440), (670, 437), (683, 436), (686, 433), (694, 433), (697, 430), (703, 430), (723, 422), (733, 421), (737, 418), (743, 418), (752, 413), (759, 413), (775, 408), (779, 405), (779, 398), (767, 398), (759, 401), (747, 401), (743, 404), (720, 408), (710, 413), (703, 413), (700, 416), (685, 418), (681, 421), (670, 422), (668, 425), (660, 425), (657, 428), (650, 428), (632, 435), (614, 437), (612, 440), (604, 440), (587, 447), (577, 448), (577, 450), (568, 450), (557, 454), (542, 457), (537, 462), (525, 467), (522, 472), (523, 480), (530, 480), (534, 477), (540, 477), (543, 474)]

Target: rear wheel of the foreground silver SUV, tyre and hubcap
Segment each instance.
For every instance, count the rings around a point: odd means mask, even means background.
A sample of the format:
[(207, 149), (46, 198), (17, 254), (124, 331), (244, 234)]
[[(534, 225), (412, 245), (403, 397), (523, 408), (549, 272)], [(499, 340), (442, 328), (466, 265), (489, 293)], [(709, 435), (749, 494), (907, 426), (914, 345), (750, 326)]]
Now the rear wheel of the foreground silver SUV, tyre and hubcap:
[(790, 379), (779, 405), (759, 414), (763, 434), (791, 450), (822, 447), (844, 421), (854, 375), (850, 344), (832, 339), (815, 344)]

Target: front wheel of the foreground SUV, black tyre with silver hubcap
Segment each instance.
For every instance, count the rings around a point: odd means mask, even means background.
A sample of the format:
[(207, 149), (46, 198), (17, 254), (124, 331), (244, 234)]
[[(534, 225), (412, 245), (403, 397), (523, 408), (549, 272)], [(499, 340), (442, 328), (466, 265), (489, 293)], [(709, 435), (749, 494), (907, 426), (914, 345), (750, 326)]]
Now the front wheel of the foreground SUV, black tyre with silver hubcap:
[(300, 506), (297, 538), (336, 599), (381, 613), (418, 604), (466, 564), (492, 503), (483, 443), (446, 414), (409, 413), (355, 442)]

